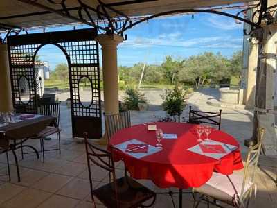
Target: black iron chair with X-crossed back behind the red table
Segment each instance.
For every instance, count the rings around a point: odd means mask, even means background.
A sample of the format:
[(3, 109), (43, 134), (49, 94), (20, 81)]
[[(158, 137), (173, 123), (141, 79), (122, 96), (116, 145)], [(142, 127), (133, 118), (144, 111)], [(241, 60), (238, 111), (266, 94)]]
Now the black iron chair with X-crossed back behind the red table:
[(188, 117), (188, 123), (208, 123), (212, 125), (217, 125), (218, 130), (221, 128), (221, 114), (222, 110), (220, 109), (220, 112), (205, 112), (205, 111), (199, 111), (199, 110), (192, 110), (192, 107), (190, 106), (190, 112)]

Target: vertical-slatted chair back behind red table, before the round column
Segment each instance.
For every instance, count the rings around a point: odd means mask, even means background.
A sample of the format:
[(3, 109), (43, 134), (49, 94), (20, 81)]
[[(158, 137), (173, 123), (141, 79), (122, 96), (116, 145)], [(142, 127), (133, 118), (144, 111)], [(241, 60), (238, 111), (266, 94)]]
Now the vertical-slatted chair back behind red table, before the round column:
[(105, 115), (105, 132), (108, 139), (118, 130), (131, 126), (131, 114), (129, 111), (113, 115)]

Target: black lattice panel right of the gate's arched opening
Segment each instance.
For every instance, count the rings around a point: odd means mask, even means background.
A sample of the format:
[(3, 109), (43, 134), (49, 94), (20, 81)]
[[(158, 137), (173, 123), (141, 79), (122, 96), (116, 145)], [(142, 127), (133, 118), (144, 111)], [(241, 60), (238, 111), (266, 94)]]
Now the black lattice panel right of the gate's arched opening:
[[(70, 79), (73, 100), (73, 116), (100, 117), (100, 71), (98, 44), (95, 41), (65, 42), (60, 44), (70, 58)], [(92, 101), (85, 106), (80, 101), (79, 82), (82, 78), (91, 82)]]

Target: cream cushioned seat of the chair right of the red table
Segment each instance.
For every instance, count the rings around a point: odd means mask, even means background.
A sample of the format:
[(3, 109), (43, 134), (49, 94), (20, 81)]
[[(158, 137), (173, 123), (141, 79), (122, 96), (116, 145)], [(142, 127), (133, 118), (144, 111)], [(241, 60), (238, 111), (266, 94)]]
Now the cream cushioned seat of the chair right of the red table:
[[(202, 187), (194, 188), (194, 190), (233, 205), (234, 198), (240, 196), (242, 191), (243, 177), (241, 175), (232, 174), (229, 175), (229, 178), (227, 175), (214, 172), (213, 176), (206, 184), (202, 185)], [(251, 182), (245, 184), (244, 193), (252, 186), (253, 184)]]

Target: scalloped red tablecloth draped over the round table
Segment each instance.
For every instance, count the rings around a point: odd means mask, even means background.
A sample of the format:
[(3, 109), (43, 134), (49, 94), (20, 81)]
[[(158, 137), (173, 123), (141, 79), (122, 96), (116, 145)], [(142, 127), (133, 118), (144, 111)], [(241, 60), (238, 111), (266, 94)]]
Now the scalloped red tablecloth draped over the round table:
[[(217, 160), (204, 155), (190, 152), (188, 148), (198, 144), (196, 125), (188, 123), (156, 123), (163, 133), (177, 134), (178, 139), (163, 139), (163, 150), (153, 155), (136, 159), (121, 151), (114, 151), (116, 161), (122, 159), (127, 170), (136, 179), (152, 180), (161, 188), (199, 187), (206, 183), (212, 176), (213, 171), (225, 175), (233, 173), (233, 170), (243, 168), (239, 148), (233, 153)], [(157, 144), (155, 131), (148, 131), (148, 125), (134, 125), (116, 132), (111, 137), (110, 145), (123, 143), (131, 139), (138, 139), (145, 143)], [(221, 141), (226, 144), (239, 146), (231, 136), (220, 130), (213, 129), (210, 139)]]

